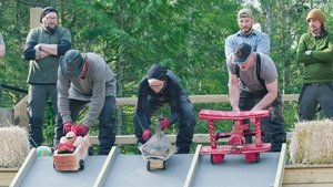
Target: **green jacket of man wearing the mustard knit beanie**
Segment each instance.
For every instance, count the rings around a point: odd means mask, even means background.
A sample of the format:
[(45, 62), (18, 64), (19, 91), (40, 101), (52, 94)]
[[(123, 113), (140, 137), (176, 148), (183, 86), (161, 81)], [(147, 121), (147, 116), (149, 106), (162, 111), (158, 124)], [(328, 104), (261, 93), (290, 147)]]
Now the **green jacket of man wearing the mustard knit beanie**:
[[(305, 51), (311, 50), (310, 55)], [(304, 83), (333, 82), (333, 35), (325, 31), (321, 37), (304, 33), (297, 46), (297, 63), (304, 65)]]

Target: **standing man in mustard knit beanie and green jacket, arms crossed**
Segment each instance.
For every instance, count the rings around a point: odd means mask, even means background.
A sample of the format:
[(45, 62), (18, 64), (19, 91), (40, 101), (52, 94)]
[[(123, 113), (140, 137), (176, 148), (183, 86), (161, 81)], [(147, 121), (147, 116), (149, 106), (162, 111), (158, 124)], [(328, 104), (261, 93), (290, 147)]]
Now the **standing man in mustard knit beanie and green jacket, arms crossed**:
[(324, 13), (311, 10), (306, 15), (309, 32), (297, 46), (297, 63), (303, 64), (303, 87), (299, 98), (299, 120), (314, 120), (317, 105), (333, 118), (333, 35), (325, 27)]

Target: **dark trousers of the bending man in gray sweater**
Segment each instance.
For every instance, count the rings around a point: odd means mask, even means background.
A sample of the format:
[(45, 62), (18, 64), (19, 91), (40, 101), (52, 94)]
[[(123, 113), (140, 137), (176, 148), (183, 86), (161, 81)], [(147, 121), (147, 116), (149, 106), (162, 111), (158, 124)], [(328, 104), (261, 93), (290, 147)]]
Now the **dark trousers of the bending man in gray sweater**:
[[(79, 114), (83, 111), (83, 108), (89, 104), (88, 101), (79, 101), (79, 100), (70, 100), (70, 111), (71, 111), (71, 118), (75, 122), (79, 117)], [(103, 108), (98, 117), (99, 120), (99, 155), (108, 155), (111, 147), (114, 145), (115, 141), (115, 120), (114, 120), (114, 112), (115, 112), (115, 97), (114, 96), (105, 96)], [(60, 116), (60, 115), (59, 115)], [(63, 136), (63, 124), (62, 120), (56, 127), (56, 142)]]

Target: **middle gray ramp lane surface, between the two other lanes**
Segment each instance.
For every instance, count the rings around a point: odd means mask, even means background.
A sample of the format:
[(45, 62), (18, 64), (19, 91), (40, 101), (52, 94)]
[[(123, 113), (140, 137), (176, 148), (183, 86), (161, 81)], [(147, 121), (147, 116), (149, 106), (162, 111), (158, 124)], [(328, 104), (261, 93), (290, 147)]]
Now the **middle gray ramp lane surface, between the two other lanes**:
[(193, 155), (175, 154), (167, 160), (167, 169), (147, 170), (140, 155), (119, 155), (105, 180), (105, 187), (182, 187)]

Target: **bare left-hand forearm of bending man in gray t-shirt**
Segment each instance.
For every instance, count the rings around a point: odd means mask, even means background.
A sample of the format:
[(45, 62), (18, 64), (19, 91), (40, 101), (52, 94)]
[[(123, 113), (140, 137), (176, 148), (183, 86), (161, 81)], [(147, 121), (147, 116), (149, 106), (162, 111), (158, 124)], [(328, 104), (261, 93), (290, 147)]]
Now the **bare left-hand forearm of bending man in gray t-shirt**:
[(229, 100), (232, 111), (240, 111), (240, 86), (239, 77), (235, 74), (229, 73)]

